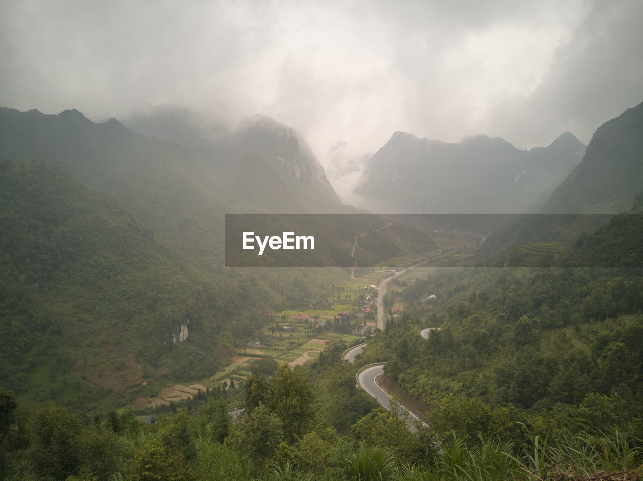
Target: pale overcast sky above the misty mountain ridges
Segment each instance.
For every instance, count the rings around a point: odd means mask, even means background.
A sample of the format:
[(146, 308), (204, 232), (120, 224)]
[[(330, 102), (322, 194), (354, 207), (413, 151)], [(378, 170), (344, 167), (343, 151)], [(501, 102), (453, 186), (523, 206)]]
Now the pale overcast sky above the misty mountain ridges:
[(519, 148), (643, 101), (643, 1), (0, 1), (0, 105), (265, 114), (323, 157), (396, 130)]

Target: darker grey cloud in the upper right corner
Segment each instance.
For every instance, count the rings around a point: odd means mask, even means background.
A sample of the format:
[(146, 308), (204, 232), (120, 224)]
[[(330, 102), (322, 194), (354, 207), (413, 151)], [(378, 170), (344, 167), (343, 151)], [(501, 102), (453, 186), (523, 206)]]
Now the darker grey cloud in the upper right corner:
[(638, 1), (588, 5), (534, 92), (498, 103), (490, 130), (521, 146), (543, 145), (565, 130), (588, 143), (602, 123), (643, 101), (642, 19)]

